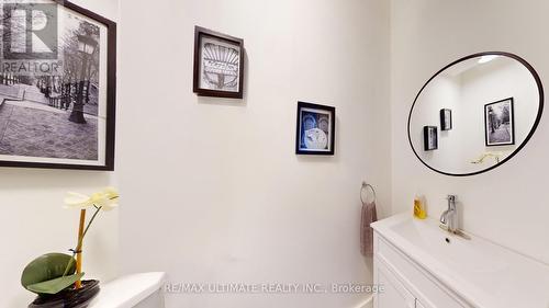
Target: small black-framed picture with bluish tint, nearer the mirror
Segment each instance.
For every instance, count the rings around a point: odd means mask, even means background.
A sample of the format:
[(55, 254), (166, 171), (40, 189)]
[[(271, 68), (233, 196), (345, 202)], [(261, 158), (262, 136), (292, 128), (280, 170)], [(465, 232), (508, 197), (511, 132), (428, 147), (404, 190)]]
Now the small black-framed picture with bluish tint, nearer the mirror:
[(334, 155), (336, 109), (298, 102), (296, 155)]

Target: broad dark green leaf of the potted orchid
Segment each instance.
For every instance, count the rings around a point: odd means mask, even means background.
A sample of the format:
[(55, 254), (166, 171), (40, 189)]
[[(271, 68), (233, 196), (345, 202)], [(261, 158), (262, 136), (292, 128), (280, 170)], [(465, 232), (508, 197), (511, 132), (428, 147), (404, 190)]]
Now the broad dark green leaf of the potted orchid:
[(68, 272), (69, 275), (76, 272), (76, 261), (72, 256), (65, 253), (41, 255), (29, 263), (23, 270), (21, 284), (29, 289), (27, 286), (30, 285), (61, 277), (70, 260), (72, 260), (72, 265)]

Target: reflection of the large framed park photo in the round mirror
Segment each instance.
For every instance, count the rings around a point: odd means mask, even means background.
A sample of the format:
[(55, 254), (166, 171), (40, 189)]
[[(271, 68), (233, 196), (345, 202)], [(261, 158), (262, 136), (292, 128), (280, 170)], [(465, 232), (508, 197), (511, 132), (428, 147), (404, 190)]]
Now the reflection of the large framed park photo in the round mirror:
[(486, 147), (515, 144), (513, 98), (484, 105), (484, 135)]

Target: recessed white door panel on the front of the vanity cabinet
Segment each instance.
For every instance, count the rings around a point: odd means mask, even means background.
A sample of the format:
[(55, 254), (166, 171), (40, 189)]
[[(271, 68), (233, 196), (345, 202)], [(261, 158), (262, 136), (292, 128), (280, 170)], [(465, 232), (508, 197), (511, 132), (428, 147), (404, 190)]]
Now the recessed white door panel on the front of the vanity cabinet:
[(415, 297), (396, 280), (389, 269), (377, 266), (376, 283), (383, 292), (376, 295), (376, 308), (414, 308)]

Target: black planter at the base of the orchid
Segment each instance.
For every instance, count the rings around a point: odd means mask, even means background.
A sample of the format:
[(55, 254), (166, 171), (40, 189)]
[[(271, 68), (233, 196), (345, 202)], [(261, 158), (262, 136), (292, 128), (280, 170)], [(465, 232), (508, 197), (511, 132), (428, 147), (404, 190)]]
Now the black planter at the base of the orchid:
[(79, 289), (64, 289), (56, 295), (41, 295), (29, 308), (86, 308), (99, 293), (99, 281), (82, 281)]

